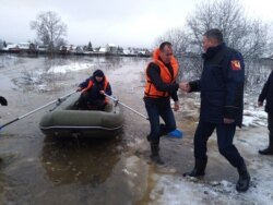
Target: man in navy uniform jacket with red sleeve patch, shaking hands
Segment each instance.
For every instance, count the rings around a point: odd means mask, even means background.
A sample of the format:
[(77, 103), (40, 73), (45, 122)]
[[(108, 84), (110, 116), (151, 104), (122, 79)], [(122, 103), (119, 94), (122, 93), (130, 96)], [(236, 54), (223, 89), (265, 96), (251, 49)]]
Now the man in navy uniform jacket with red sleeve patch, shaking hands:
[(236, 125), (241, 126), (245, 64), (240, 52), (226, 47), (223, 34), (210, 29), (203, 35), (201, 79), (185, 85), (186, 92), (201, 92), (200, 120), (194, 134), (195, 166), (183, 176), (204, 176), (207, 156), (206, 142), (216, 129), (219, 153), (237, 168), (236, 190), (247, 191), (250, 176), (244, 158), (233, 144)]

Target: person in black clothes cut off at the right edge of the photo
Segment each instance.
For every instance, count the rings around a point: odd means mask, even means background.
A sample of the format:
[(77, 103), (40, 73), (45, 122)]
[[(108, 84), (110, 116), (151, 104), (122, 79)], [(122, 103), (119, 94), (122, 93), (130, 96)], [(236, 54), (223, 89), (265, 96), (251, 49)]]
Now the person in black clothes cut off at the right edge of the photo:
[(269, 147), (259, 150), (261, 155), (273, 155), (273, 71), (262, 88), (262, 93), (259, 96), (258, 105), (263, 106), (263, 101), (266, 99), (265, 111), (268, 112), (268, 128), (269, 128)]

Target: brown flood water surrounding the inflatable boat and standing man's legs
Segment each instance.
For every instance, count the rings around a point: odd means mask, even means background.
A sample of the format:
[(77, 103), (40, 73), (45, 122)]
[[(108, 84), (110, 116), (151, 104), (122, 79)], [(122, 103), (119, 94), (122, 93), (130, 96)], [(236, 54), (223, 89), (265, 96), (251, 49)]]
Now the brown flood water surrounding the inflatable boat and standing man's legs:
[[(9, 101), (8, 107), (0, 107), (0, 124), (75, 91), (96, 69), (104, 70), (120, 101), (146, 114), (142, 97), (150, 60), (0, 56), (0, 95)], [(153, 204), (155, 174), (181, 176), (193, 166), (199, 96), (189, 96), (180, 95), (182, 109), (176, 112), (185, 137), (161, 141), (165, 168), (150, 161), (147, 120), (129, 110), (124, 111), (122, 132), (108, 140), (45, 136), (38, 123), (55, 105), (1, 129), (0, 204)], [(225, 176), (236, 182), (237, 174), (218, 157), (215, 141), (210, 146), (213, 160), (209, 169), (218, 171), (207, 173), (206, 180)]]

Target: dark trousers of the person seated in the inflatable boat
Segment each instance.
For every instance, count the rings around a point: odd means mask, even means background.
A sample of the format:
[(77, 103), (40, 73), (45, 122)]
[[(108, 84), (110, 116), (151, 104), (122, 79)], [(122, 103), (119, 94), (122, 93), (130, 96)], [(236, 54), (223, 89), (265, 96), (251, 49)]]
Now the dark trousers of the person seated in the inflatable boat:
[(93, 99), (88, 92), (83, 92), (78, 101), (79, 108), (84, 110), (104, 110), (106, 106), (104, 99)]

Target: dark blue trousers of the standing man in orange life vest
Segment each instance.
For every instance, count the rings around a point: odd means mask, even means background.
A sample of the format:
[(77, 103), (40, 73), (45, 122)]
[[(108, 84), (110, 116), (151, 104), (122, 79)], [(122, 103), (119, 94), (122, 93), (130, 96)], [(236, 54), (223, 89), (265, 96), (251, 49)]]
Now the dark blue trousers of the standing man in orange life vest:
[[(153, 143), (159, 143), (159, 137), (163, 134), (171, 132), (176, 130), (176, 120), (174, 112), (170, 108), (169, 99), (158, 101), (158, 100), (144, 100), (145, 108), (147, 111), (149, 120), (150, 120), (150, 138)], [(159, 117), (162, 117), (165, 125), (161, 125)]]

